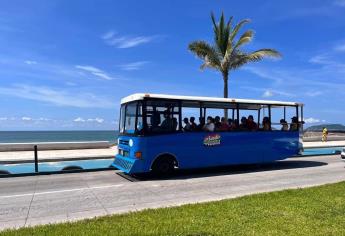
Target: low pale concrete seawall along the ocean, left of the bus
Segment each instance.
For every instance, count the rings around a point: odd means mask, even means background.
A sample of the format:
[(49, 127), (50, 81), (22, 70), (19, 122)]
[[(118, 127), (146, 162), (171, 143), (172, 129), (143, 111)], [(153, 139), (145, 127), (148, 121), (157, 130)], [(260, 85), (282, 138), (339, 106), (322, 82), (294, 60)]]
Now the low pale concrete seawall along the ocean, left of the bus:
[(103, 149), (111, 145), (108, 141), (94, 142), (40, 142), (40, 143), (0, 143), (0, 152), (33, 151), (37, 145), (42, 150)]

